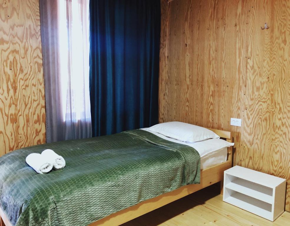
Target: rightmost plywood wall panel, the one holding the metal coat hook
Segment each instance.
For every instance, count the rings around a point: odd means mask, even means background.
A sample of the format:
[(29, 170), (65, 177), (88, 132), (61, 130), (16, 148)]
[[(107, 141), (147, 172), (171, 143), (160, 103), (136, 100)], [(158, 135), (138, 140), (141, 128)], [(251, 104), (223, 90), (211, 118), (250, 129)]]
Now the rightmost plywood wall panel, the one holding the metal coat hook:
[[(289, 1), (253, 1), (248, 17), (248, 64), (241, 165), (287, 179), (290, 210)], [(270, 29), (257, 25), (268, 22)], [(260, 25), (260, 26), (261, 26)]]

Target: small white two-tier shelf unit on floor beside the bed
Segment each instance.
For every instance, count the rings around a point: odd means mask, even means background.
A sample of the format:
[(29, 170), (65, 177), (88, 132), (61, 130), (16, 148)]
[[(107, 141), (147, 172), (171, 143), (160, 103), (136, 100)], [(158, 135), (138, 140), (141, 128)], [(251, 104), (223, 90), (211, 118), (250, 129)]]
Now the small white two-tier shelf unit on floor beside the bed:
[(284, 212), (286, 180), (241, 166), (224, 172), (223, 201), (274, 221)]

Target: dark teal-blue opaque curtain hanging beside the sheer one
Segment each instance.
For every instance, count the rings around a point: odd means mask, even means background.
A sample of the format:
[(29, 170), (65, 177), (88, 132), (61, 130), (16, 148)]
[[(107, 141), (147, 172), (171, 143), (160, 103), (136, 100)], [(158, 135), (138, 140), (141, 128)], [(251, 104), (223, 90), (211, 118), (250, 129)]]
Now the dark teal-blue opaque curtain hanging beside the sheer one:
[(90, 1), (92, 135), (158, 123), (160, 1)]

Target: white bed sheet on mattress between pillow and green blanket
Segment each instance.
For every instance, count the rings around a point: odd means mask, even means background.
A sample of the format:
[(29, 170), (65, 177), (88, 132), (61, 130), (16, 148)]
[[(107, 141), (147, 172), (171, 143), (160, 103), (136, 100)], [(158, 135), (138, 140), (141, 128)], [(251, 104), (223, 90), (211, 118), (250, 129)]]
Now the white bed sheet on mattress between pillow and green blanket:
[[(179, 144), (185, 144), (185, 145), (188, 145), (190, 147), (193, 147), (200, 154), (200, 169), (201, 170), (206, 169), (206, 168), (211, 167), (211, 166), (214, 166), (216, 164), (221, 164), (221, 163), (227, 161), (227, 155), (228, 155), (228, 148), (227, 147), (223, 147), (223, 148), (217, 149), (215, 151), (211, 151), (209, 149), (200, 149), (200, 145), (203, 144), (202, 142), (204, 142), (204, 144), (206, 144), (206, 140), (199, 141), (199, 142), (193, 142), (193, 143), (186, 143), (186, 142), (178, 141), (176, 139), (172, 139), (170, 137), (165, 137), (164, 135), (157, 133), (157, 132), (149, 131), (149, 130), (147, 130), (147, 128), (142, 128), (142, 130), (146, 130), (147, 132), (153, 133), (156, 136), (161, 137), (165, 140), (179, 143)], [(217, 139), (217, 138), (215, 138), (215, 139)]]

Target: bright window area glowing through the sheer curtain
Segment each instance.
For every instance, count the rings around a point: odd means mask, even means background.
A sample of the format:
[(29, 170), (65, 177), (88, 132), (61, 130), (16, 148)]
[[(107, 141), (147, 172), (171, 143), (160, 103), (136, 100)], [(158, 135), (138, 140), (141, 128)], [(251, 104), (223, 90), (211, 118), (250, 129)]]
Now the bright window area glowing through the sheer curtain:
[(58, 1), (63, 121), (90, 119), (89, 1)]

